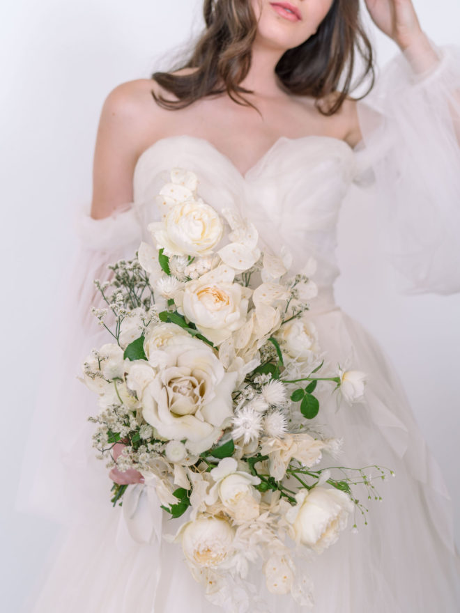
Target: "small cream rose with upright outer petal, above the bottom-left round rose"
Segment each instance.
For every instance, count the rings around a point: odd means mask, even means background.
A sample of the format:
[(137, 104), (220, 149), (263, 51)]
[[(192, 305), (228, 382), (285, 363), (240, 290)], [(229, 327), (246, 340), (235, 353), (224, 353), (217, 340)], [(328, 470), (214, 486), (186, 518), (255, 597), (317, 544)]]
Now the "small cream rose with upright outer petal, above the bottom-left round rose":
[(254, 485), (261, 482), (260, 477), (244, 470), (238, 470), (235, 458), (223, 458), (217, 467), (210, 471), (215, 484), (210, 488), (204, 502), (214, 504), (220, 499), (237, 521), (247, 521), (259, 517), (261, 493)]

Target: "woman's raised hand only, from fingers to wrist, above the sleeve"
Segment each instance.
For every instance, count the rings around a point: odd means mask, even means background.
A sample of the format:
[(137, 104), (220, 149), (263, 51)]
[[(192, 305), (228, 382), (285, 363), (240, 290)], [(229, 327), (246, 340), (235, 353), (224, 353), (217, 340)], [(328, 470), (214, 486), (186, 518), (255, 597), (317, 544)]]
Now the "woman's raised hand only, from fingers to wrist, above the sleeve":
[(412, 0), (365, 0), (365, 3), (374, 24), (403, 51), (425, 36)]

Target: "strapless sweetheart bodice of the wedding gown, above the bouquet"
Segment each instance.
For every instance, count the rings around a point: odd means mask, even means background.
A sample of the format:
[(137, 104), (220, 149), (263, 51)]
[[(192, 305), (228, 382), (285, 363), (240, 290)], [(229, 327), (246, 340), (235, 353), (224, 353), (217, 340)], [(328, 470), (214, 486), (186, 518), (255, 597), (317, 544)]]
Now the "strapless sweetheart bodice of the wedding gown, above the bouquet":
[[(141, 224), (159, 219), (155, 195), (175, 167), (199, 178), (198, 194), (217, 212), (235, 208), (253, 222), (263, 249), (285, 246), (293, 270), (309, 256), (318, 262), (315, 281), (332, 288), (339, 270), (335, 258), (340, 203), (357, 173), (355, 151), (333, 137), (279, 138), (243, 176), (206, 139), (167, 137), (141, 154), (134, 175), (134, 203)], [(147, 239), (146, 240), (151, 240)]]

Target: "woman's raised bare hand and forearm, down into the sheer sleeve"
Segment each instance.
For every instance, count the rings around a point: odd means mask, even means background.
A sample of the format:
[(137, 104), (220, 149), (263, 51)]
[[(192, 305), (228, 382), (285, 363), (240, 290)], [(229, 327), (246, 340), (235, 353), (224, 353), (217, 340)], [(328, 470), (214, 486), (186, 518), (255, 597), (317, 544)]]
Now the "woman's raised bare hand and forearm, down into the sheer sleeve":
[(438, 56), (420, 27), (412, 0), (365, 0), (365, 3), (374, 24), (396, 42), (415, 73), (436, 66)]

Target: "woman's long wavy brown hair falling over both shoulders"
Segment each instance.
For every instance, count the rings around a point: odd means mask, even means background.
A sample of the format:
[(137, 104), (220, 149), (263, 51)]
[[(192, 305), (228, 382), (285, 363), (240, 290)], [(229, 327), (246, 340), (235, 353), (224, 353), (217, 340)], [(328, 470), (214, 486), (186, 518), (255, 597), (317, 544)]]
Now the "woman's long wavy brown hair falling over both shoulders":
[[(197, 70), (184, 75), (154, 72), (151, 78), (177, 98), (168, 100), (152, 91), (155, 102), (165, 109), (183, 109), (205, 96), (227, 92), (234, 102), (256, 109), (242, 95), (254, 92), (239, 85), (250, 69), (257, 31), (250, 0), (204, 0), (203, 11), (204, 32), (180, 67)], [(316, 108), (329, 116), (342, 107), (352, 89), (357, 54), (364, 66), (353, 88), (368, 75), (371, 84), (364, 95), (353, 100), (364, 98), (374, 86), (374, 53), (360, 20), (359, 0), (334, 0), (316, 33), (298, 47), (287, 49), (275, 73), (286, 92), (315, 98)], [(332, 102), (321, 108), (321, 99), (331, 94)]]

